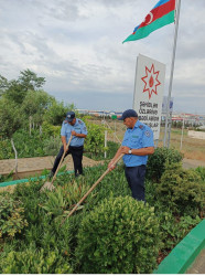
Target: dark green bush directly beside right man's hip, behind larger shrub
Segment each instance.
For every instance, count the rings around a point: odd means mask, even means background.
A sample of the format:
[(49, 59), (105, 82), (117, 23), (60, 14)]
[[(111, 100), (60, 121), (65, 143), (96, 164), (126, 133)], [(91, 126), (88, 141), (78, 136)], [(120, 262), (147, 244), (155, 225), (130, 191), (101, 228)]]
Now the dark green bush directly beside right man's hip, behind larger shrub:
[(159, 181), (165, 170), (165, 163), (180, 162), (182, 158), (182, 153), (175, 149), (157, 148), (148, 158), (147, 179)]

